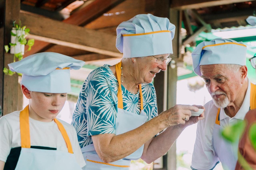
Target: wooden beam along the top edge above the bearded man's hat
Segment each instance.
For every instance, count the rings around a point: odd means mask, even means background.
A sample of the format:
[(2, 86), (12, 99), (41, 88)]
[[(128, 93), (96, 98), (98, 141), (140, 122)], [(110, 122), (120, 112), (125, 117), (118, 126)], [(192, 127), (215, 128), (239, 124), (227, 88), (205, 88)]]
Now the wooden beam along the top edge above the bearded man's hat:
[(248, 0), (172, 0), (171, 8), (176, 9), (198, 9), (211, 6), (219, 6), (226, 4), (233, 4), (239, 2), (246, 2)]

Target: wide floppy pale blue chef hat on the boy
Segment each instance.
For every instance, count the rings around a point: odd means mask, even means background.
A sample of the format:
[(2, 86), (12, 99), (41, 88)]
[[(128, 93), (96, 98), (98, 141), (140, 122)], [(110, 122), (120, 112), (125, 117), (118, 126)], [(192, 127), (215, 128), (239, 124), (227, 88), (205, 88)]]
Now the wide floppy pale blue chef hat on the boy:
[(67, 93), (71, 92), (70, 69), (78, 70), (84, 63), (63, 54), (41, 52), (8, 66), (11, 71), (23, 74), (21, 84), (30, 91)]

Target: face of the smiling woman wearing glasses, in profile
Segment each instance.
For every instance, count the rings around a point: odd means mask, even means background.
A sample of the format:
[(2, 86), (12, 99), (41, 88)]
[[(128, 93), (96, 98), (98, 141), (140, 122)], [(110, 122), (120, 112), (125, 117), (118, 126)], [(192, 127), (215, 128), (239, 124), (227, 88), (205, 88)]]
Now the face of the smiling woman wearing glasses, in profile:
[(157, 58), (164, 58), (166, 59), (169, 56), (169, 54), (160, 54), (160, 55), (154, 55), (154, 56), (146, 56), (146, 57), (139, 57), (136, 58), (136, 64), (137, 64), (137, 75), (138, 75), (138, 81), (139, 83), (151, 83), (153, 81), (153, 78), (156, 76), (156, 73), (159, 73), (161, 70), (165, 71), (166, 66), (166, 60), (163, 60)]

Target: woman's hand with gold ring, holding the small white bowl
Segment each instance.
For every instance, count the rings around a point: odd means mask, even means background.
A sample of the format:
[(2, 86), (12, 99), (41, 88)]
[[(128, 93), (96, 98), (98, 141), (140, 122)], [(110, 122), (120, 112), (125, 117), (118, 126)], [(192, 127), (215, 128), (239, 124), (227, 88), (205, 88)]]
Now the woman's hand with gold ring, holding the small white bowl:
[[(203, 106), (175, 105), (174, 107), (162, 112), (159, 116), (162, 116), (162, 118), (164, 119), (164, 125), (166, 126), (166, 128), (180, 124), (184, 125), (187, 124), (186, 122), (191, 122), (191, 120), (189, 121), (189, 118), (191, 117), (191, 111), (197, 112), (199, 111), (198, 108), (201, 107)], [(202, 115), (200, 115), (199, 117), (201, 117)], [(202, 117), (204, 117), (204, 115)], [(194, 118), (192, 120), (194, 120)]]

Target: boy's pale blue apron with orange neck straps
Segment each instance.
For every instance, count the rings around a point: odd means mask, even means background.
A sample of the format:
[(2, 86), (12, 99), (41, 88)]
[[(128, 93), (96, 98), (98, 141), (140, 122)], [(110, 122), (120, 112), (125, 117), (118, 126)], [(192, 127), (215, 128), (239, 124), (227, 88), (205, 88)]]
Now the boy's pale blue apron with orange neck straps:
[(68, 152), (31, 148), (28, 106), (20, 112), (21, 152), (15, 170), (81, 170), (65, 128), (57, 119), (54, 121), (67, 144)]

